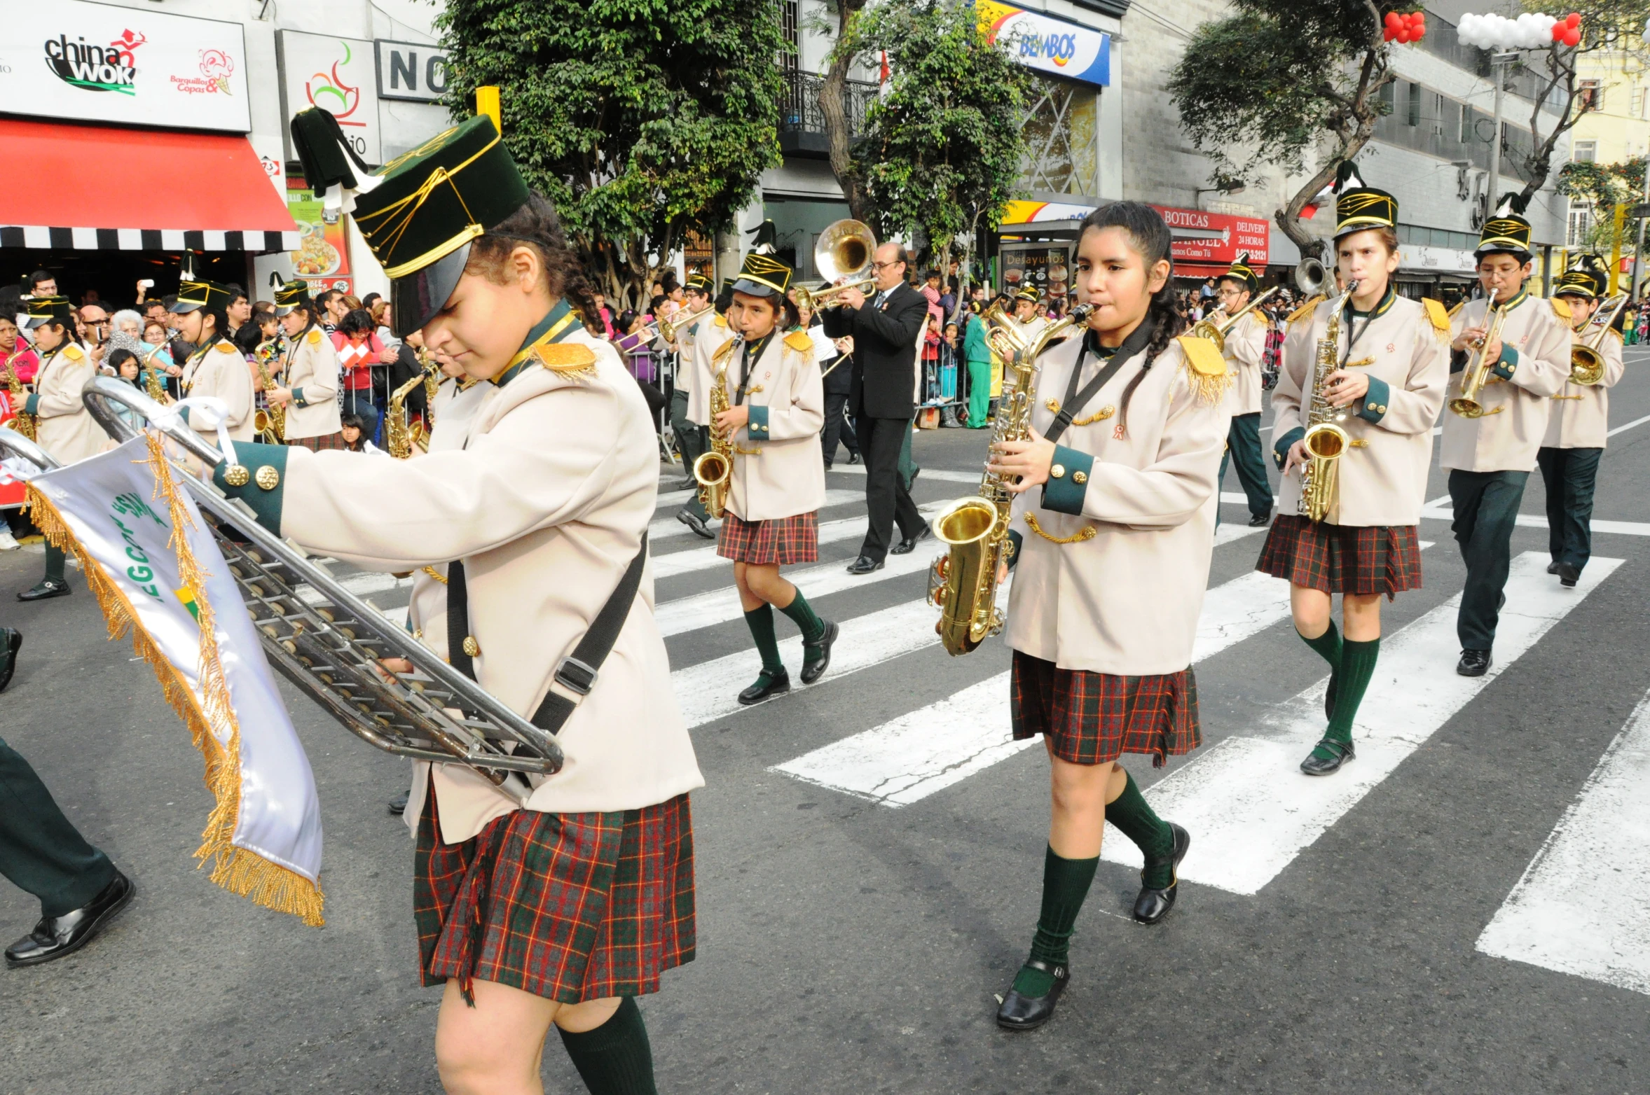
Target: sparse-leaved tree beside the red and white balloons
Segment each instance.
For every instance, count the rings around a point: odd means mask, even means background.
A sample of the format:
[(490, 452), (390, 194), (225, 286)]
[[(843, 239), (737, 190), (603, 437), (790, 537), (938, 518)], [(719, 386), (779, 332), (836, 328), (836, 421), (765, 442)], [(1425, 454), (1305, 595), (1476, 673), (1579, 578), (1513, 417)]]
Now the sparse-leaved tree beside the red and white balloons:
[[(1302, 254), (1322, 242), (1300, 211), (1358, 155), (1384, 112), (1393, 0), (1233, 0), (1233, 13), (1196, 28), (1168, 82), (1191, 143), (1213, 180), (1256, 178), (1266, 167), (1310, 178), (1274, 213)], [(1308, 168), (1310, 163), (1310, 168)]]

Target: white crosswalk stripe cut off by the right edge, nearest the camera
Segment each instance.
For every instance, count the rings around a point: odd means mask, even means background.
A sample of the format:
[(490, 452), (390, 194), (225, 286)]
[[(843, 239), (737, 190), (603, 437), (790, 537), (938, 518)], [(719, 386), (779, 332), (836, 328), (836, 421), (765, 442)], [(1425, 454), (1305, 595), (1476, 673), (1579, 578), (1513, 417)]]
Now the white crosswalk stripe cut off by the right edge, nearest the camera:
[(1647, 790), (1650, 696), (1478, 937), (1478, 950), (1650, 993)]

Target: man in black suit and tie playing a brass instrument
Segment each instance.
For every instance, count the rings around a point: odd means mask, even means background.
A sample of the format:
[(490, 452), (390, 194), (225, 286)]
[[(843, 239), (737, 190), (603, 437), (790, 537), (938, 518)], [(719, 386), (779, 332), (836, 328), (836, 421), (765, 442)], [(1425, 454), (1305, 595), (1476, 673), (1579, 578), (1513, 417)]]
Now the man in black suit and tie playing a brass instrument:
[(827, 335), (853, 336), (848, 407), (865, 457), (865, 505), (871, 526), (860, 557), (848, 566), (850, 574), (883, 567), (896, 521), (901, 538), (893, 548), (896, 556), (916, 549), (917, 541), (929, 536), (927, 523), (899, 478), (899, 447), (911, 434), (916, 412), (917, 336), (927, 320), (927, 297), (906, 285), (908, 259), (901, 244), (883, 244), (871, 261), (876, 292), (866, 298), (848, 289), (842, 294), (842, 307), (823, 313)]

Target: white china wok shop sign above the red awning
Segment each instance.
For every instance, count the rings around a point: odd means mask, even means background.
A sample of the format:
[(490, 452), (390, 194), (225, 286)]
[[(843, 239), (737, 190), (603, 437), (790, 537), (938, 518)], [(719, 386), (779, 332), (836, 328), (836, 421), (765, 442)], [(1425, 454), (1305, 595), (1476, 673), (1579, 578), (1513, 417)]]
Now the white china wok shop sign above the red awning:
[(244, 134), (239, 23), (81, 0), (0, 0), (0, 102), (28, 117)]

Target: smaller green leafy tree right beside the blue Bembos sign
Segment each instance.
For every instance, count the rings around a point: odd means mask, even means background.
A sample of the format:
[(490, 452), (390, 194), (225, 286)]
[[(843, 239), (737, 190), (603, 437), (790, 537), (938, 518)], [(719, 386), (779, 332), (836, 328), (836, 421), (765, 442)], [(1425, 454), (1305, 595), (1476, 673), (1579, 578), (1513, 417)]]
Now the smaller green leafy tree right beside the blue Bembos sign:
[(876, 5), (837, 51), (888, 54), (888, 87), (866, 110), (851, 160), (871, 226), (879, 237), (921, 233), (940, 270), (952, 257), (967, 266), (1020, 178), (1031, 74), (987, 40), (972, 5), (944, 0)]

